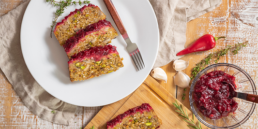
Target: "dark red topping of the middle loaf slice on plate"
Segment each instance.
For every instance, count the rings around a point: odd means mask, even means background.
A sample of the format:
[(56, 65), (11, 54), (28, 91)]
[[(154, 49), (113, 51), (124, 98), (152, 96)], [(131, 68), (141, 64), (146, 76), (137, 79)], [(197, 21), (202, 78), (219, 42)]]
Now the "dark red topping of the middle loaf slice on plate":
[(69, 38), (66, 43), (63, 45), (65, 52), (70, 52), (71, 49), (79, 43), (81, 39), (83, 39), (86, 35), (91, 34), (92, 32), (99, 31), (101, 28), (109, 26), (111, 27), (111, 23), (106, 20), (100, 20), (97, 23), (93, 23), (87, 26), (85, 29), (81, 29), (76, 32), (76, 36)]

